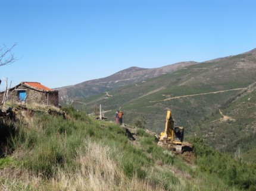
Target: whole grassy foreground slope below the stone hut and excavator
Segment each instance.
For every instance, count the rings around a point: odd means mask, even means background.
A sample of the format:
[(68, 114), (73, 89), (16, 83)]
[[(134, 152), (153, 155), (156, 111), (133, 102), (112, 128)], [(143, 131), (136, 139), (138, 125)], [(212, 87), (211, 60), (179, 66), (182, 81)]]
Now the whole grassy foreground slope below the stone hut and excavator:
[[(15, 128), (13, 138), (8, 139), (11, 142), (4, 145), (9, 154), (0, 159), (3, 189), (238, 190), (246, 183), (251, 189), (255, 185), (253, 171), (238, 176), (237, 182), (223, 171), (210, 172), (214, 164), (206, 163), (204, 152), (228, 159), (233, 166), (226, 169), (237, 173), (241, 173), (241, 162), (215, 154), (198, 140), (194, 149), (199, 163), (188, 164), (158, 147), (154, 136), (143, 129), (131, 127), (137, 135), (136, 141), (131, 141), (118, 125), (95, 121), (73, 109), (65, 112), (67, 118), (63, 119), (57, 114), (25, 110), (14, 123), (1, 121), (1, 130)], [(243, 176), (251, 179), (244, 183), (239, 178)]]

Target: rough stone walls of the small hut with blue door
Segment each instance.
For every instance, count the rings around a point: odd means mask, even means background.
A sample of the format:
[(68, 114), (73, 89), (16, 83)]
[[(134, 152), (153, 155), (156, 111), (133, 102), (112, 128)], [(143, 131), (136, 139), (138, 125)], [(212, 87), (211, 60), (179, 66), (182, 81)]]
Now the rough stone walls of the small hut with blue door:
[[(58, 106), (58, 91), (38, 91), (25, 85), (18, 85), (15, 90), (9, 91), (8, 101), (20, 101), (18, 98), (18, 90), (26, 90), (26, 103), (39, 103)], [(0, 101), (4, 97), (4, 93), (0, 94)]]

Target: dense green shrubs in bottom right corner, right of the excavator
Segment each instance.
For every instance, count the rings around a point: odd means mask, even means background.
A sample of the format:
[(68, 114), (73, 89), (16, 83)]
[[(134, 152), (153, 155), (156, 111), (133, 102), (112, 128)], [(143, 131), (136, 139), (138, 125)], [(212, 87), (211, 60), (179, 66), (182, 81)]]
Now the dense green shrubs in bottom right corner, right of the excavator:
[(230, 155), (217, 152), (205, 145), (202, 139), (195, 138), (191, 141), (193, 143), (193, 152), (196, 155), (196, 164), (198, 164), (201, 171), (216, 174), (230, 186), (255, 190), (255, 164), (234, 160)]

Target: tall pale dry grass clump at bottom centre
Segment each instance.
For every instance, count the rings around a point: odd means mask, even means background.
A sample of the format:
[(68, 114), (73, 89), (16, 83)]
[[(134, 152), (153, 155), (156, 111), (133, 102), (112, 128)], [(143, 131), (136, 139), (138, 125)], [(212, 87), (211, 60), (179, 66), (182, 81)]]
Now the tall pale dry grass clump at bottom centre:
[(57, 178), (51, 180), (54, 190), (156, 190), (148, 182), (127, 179), (111, 160), (113, 152), (121, 157), (120, 151), (111, 151), (110, 147), (89, 142), (86, 151), (80, 151), (80, 168), (76, 174), (69, 176), (58, 171)]

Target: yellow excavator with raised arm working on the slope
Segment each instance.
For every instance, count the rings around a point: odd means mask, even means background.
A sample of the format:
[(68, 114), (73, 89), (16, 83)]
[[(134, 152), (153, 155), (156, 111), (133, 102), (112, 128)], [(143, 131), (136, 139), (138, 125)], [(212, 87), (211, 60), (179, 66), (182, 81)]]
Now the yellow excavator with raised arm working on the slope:
[(158, 136), (158, 145), (166, 146), (173, 151), (182, 152), (182, 142), (184, 138), (184, 128), (180, 126), (174, 127), (174, 120), (171, 111), (167, 111), (166, 128)]

